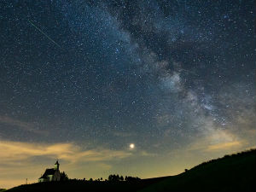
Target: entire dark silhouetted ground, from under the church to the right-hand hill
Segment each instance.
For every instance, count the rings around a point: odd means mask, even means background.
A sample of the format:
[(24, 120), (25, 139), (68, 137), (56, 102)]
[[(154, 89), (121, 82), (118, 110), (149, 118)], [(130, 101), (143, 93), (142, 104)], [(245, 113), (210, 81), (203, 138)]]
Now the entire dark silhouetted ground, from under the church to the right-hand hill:
[(21, 185), (11, 192), (65, 191), (256, 191), (256, 150), (225, 156), (172, 177), (139, 182), (67, 181)]

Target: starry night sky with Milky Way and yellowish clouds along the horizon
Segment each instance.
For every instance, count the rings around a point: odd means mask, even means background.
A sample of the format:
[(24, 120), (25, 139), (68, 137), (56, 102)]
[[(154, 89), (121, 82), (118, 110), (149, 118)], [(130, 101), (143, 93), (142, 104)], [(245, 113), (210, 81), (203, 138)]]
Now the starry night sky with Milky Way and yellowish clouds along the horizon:
[(1, 1), (0, 188), (56, 159), (144, 178), (255, 147), (255, 5)]

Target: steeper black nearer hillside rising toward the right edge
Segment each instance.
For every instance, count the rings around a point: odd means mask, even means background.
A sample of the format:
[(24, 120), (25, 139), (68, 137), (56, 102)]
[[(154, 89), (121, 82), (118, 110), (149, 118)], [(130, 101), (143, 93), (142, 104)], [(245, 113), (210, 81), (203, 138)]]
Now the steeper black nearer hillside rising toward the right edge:
[(141, 191), (256, 191), (256, 150), (202, 163)]

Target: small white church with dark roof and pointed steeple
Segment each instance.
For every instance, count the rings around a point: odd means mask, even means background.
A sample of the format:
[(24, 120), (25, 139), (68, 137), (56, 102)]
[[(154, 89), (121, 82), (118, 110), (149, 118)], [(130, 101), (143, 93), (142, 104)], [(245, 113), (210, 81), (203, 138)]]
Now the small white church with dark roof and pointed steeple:
[(42, 175), (42, 177), (38, 178), (38, 183), (60, 181), (60, 180), (61, 180), (60, 164), (57, 160), (55, 162), (54, 168), (46, 169), (44, 172), (44, 175)]

